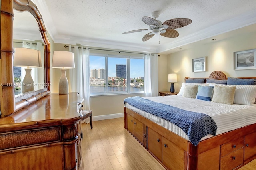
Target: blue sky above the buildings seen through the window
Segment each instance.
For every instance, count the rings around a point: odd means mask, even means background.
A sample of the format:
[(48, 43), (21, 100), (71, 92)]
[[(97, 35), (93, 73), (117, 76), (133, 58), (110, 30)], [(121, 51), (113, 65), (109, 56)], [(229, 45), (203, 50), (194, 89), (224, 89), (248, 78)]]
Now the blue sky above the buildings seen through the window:
[[(108, 77), (116, 77), (116, 64), (126, 64), (124, 58), (108, 58)], [(144, 77), (144, 60), (131, 59), (131, 78)], [(90, 56), (90, 70), (106, 69), (105, 57)]]

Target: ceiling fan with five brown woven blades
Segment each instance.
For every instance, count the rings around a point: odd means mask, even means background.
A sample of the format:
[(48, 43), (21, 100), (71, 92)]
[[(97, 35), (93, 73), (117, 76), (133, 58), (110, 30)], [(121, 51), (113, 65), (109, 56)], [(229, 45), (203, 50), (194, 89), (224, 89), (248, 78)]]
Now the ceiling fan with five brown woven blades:
[(174, 18), (174, 19), (166, 20), (162, 24), (161, 21), (156, 20), (156, 18), (159, 17), (160, 12), (154, 11), (151, 14), (152, 14), (153, 18), (148, 17), (148, 16), (142, 17), (142, 21), (145, 24), (149, 25), (149, 29), (132, 30), (132, 31), (124, 32), (123, 34), (151, 30), (152, 32), (146, 34), (142, 38), (142, 41), (144, 41), (144, 42), (149, 40), (155, 34), (158, 34), (158, 33), (160, 33), (160, 35), (164, 36), (164, 37), (175, 38), (175, 37), (179, 36), (179, 33), (174, 29), (187, 26), (188, 24), (191, 24), (191, 22), (192, 22), (192, 20), (190, 20), (188, 18)]

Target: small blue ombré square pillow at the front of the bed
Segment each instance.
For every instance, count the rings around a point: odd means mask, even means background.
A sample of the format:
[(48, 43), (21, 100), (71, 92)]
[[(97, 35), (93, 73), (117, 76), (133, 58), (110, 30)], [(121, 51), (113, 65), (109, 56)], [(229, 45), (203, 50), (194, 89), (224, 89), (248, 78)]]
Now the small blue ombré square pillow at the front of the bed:
[(212, 93), (214, 86), (198, 86), (196, 99), (212, 101)]

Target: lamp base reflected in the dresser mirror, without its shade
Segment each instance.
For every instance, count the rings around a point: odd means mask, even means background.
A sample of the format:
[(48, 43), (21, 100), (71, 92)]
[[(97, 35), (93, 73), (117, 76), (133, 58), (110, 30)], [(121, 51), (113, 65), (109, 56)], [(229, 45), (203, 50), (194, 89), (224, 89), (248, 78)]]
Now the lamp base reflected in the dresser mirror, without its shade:
[(22, 81), (21, 93), (26, 93), (28, 91), (35, 90), (34, 81), (33, 81), (33, 78), (31, 76), (31, 70), (32, 69), (25, 69), (26, 74), (25, 74), (25, 77)]

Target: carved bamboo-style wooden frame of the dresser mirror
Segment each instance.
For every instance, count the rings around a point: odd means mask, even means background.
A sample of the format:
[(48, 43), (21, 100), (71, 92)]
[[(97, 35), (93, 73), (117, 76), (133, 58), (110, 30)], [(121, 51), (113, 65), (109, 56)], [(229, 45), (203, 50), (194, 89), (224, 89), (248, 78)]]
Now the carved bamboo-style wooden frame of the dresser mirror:
[(13, 75), (13, 9), (30, 12), (39, 27), (39, 31), (44, 41), (44, 82), (50, 85), (50, 41), (42, 15), (37, 6), (30, 0), (4, 0), (1, 2), (1, 55), (0, 55), (0, 116), (8, 116), (32, 102), (50, 94), (50, 86), (44, 89), (32, 91), (19, 96), (15, 100), (14, 95), (14, 75)]

